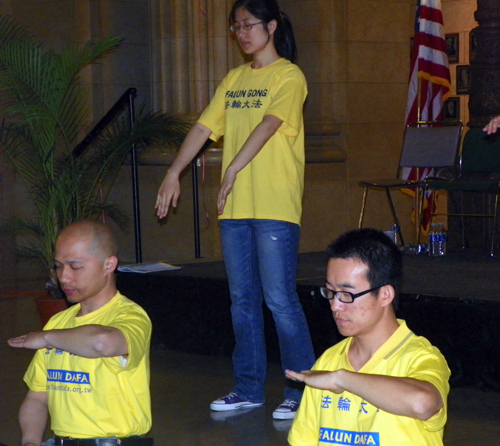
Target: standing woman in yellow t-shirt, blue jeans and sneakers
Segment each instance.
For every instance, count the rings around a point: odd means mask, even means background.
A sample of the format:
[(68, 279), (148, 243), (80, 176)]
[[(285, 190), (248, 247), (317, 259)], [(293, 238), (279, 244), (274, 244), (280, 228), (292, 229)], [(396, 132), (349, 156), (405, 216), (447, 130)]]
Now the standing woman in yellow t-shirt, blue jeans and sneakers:
[[(205, 141), (224, 135), (217, 199), (236, 346), (235, 387), (215, 411), (260, 406), (267, 374), (262, 301), (278, 333), (283, 370), (305, 370), (314, 352), (296, 293), (304, 189), (307, 84), (293, 64), (291, 23), (275, 0), (237, 0), (230, 29), (252, 61), (231, 70), (186, 136), (158, 191), (157, 215), (177, 206), (179, 175)], [(275, 419), (292, 419), (302, 396), (293, 382)]]

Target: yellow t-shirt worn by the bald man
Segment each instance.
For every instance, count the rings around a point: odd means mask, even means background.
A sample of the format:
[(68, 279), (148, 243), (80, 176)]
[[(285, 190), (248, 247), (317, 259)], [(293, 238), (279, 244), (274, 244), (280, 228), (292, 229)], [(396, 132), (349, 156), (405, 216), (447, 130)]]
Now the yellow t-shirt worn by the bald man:
[(51, 428), (74, 438), (128, 437), (151, 429), (149, 346), (151, 321), (136, 303), (117, 293), (97, 311), (75, 317), (76, 304), (53, 316), (44, 330), (98, 324), (120, 330), (127, 358), (82, 358), (57, 349), (37, 350), (24, 380), (47, 392)]

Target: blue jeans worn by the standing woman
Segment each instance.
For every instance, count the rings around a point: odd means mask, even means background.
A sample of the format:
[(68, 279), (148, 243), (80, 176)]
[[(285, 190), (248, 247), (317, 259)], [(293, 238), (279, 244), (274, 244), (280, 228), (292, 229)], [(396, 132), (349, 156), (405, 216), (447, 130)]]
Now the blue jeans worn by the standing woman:
[[(283, 370), (309, 370), (315, 361), (296, 291), (300, 226), (276, 220), (220, 220), (220, 231), (236, 340), (236, 386), (231, 391), (246, 400), (264, 402), (263, 298), (276, 325)], [(285, 388), (285, 398), (300, 401), (301, 397), (302, 389)]]

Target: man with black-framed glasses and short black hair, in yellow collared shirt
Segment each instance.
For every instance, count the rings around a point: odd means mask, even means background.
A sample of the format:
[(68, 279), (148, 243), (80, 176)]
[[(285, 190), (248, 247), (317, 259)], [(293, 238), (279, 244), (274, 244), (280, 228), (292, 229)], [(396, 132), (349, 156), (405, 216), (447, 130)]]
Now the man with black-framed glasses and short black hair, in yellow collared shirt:
[(442, 445), (450, 370), (439, 350), (396, 318), (402, 256), (381, 231), (358, 229), (327, 249), (323, 297), (346, 338), (310, 371), (293, 446)]

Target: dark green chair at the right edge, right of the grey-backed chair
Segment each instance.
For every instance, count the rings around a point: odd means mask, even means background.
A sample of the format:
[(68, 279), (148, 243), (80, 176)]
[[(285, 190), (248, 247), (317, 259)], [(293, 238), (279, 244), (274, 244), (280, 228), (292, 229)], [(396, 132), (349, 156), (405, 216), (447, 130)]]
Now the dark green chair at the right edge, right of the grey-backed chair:
[[(426, 190), (444, 190), (457, 193), (459, 212), (431, 214), (431, 221), (437, 215), (460, 217), (462, 249), (466, 247), (464, 217), (483, 217), (492, 221), (490, 256), (494, 255), (495, 233), (498, 220), (498, 198), (500, 194), (500, 135), (486, 135), (482, 129), (472, 128), (464, 137), (459, 155), (458, 174), (452, 179), (429, 179)], [(493, 195), (493, 209), (489, 212), (464, 212), (464, 192)]]

